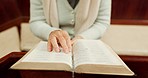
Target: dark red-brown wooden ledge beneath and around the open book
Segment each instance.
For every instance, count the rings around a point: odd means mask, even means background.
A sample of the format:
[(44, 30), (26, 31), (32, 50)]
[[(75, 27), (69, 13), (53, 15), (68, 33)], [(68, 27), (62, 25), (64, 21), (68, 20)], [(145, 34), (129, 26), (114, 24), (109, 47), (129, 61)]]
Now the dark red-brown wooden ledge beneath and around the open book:
[[(0, 78), (70, 78), (72, 73), (60, 71), (10, 70), (25, 52), (12, 52), (0, 59)], [(120, 56), (129, 68), (135, 72), (133, 77), (75, 74), (75, 78), (148, 78), (148, 56)]]

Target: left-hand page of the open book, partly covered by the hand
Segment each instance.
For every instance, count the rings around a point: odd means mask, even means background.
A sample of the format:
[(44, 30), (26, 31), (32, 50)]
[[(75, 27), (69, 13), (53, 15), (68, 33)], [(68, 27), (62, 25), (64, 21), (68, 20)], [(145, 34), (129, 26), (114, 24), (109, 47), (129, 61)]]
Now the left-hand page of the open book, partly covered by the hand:
[(48, 52), (47, 42), (41, 41), (22, 62), (65, 63), (72, 68), (72, 53)]

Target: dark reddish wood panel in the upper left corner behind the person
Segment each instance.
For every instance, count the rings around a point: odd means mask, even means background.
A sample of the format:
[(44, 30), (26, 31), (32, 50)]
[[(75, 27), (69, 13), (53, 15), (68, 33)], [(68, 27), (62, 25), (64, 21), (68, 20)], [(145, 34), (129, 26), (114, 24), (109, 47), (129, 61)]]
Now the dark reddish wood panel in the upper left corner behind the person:
[(0, 31), (28, 22), (30, 0), (0, 0)]

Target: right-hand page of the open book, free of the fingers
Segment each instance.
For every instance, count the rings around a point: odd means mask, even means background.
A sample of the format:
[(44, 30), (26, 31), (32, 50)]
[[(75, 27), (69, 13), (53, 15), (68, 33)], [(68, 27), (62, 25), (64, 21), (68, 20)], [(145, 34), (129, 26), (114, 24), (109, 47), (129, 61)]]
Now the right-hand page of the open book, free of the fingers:
[(74, 68), (81, 64), (122, 65), (100, 40), (78, 40), (73, 54)]

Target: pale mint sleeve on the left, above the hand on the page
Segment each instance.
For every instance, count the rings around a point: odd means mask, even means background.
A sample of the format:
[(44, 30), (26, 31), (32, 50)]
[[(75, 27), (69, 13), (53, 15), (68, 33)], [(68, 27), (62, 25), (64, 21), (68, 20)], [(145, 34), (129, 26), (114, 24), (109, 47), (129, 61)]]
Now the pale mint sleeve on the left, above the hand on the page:
[(42, 40), (48, 40), (49, 34), (58, 30), (58, 28), (51, 27), (47, 24), (42, 0), (30, 0), (30, 29), (31, 31)]

